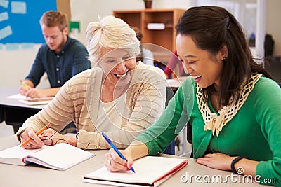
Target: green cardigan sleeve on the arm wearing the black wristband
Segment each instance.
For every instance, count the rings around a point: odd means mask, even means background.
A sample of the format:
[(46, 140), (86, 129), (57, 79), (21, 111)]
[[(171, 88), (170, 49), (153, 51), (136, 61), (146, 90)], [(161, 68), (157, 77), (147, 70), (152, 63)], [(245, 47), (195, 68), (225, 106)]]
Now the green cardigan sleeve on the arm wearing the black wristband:
[(261, 78), (256, 86), (259, 87), (255, 89), (259, 97), (253, 107), (256, 121), (261, 125), (263, 136), (273, 152), (272, 160), (259, 162), (256, 175), (261, 176), (260, 183), (281, 186), (281, 89), (267, 78)]

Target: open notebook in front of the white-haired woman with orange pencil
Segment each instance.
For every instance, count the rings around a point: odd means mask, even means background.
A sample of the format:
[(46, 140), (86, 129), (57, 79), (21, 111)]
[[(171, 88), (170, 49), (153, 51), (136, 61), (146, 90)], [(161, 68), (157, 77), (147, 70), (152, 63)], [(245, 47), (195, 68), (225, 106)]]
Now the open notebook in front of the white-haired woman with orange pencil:
[(65, 143), (37, 149), (14, 146), (0, 151), (0, 163), (27, 165), (32, 162), (57, 170), (66, 170), (91, 157), (93, 157), (92, 153)]

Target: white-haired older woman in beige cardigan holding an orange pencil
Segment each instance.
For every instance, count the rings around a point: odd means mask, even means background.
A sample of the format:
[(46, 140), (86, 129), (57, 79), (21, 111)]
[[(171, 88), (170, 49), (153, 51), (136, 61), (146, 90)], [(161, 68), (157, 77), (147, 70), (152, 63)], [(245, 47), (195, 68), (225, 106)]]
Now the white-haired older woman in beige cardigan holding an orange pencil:
[[(90, 23), (86, 36), (89, 59), (96, 67), (67, 81), (50, 104), (25, 121), (18, 137), (22, 142), (32, 141), (24, 148), (62, 142), (79, 148), (110, 148), (100, 132), (118, 148), (126, 148), (164, 110), (164, 73), (136, 62), (139, 41), (126, 22), (107, 16)], [(59, 134), (71, 121), (77, 136)], [(51, 129), (37, 137), (36, 132), (47, 123)]]

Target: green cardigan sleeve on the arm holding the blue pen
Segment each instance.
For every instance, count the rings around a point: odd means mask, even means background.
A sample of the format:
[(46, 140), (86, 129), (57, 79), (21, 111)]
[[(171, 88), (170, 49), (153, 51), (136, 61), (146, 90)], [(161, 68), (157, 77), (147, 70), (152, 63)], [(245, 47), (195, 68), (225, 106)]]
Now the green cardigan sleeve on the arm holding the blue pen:
[(148, 155), (163, 152), (188, 123), (194, 100), (193, 86), (191, 79), (187, 78), (156, 123), (136, 138), (148, 146)]

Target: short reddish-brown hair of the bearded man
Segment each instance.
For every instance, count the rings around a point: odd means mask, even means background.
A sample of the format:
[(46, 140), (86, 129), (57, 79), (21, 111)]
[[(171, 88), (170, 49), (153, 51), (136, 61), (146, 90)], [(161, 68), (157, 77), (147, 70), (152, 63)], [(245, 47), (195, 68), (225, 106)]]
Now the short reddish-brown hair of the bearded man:
[(68, 27), (67, 15), (61, 12), (47, 11), (40, 18), (40, 25), (46, 25), (47, 27), (58, 26), (63, 31), (65, 27)]

